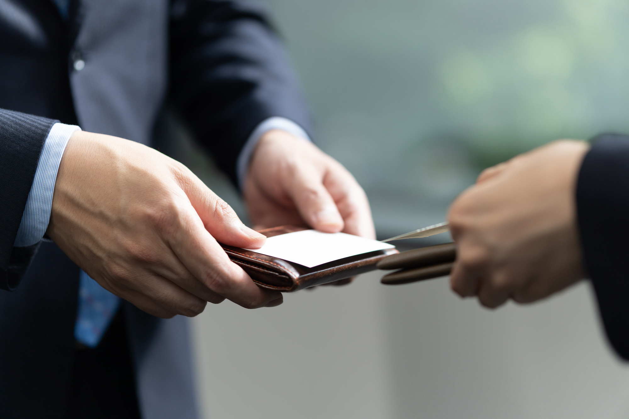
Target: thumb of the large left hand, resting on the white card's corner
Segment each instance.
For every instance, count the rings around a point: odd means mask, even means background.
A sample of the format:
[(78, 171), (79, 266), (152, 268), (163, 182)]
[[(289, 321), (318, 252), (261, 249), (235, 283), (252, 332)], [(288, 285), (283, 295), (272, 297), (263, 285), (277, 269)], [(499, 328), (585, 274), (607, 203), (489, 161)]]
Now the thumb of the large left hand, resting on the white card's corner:
[(264, 245), (267, 240), (264, 235), (244, 225), (231, 206), (213, 193), (192, 172), (189, 172), (188, 176), (189, 178), (182, 184), (182, 189), (206, 230), (218, 242), (245, 249), (259, 249)]

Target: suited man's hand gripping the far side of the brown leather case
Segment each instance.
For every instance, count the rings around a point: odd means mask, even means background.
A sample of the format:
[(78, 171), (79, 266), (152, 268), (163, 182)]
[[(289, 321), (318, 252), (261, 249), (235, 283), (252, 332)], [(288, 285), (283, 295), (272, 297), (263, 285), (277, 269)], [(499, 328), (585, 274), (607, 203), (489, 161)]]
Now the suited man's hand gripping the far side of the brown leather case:
[(369, 201), (352, 174), (313, 143), (285, 131), (260, 138), (243, 196), (255, 228), (308, 225), (376, 238)]

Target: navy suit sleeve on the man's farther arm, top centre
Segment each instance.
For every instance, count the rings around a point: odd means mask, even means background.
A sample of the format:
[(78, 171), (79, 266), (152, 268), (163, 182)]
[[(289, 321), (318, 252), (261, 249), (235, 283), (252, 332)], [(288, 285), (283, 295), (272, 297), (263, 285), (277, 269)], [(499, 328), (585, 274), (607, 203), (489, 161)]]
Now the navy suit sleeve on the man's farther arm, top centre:
[(170, 101), (235, 184), (238, 154), (260, 122), (283, 116), (310, 129), (284, 46), (247, 1), (172, 3)]

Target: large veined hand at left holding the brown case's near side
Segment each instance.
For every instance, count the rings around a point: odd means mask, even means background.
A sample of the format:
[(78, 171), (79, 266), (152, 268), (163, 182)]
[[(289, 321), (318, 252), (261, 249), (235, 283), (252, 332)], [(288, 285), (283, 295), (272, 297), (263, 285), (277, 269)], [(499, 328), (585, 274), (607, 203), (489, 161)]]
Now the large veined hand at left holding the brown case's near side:
[(164, 318), (206, 301), (275, 306), (216, 242), (247, 248), (265, 237), (184, 165), (144, 145), (76, 131), (59, 167), (47, 234), (103, 288)]

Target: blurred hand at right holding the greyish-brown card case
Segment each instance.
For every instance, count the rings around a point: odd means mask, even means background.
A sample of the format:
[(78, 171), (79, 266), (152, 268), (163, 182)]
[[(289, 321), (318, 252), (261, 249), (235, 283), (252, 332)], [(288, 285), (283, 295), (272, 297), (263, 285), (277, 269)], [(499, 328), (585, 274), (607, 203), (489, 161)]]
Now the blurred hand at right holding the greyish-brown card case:
[(583, 277), (574, 193), (588, 145), (563, 140), (481, 173), (448, 214), (450, 284), (495, 308), (530, 303)]

